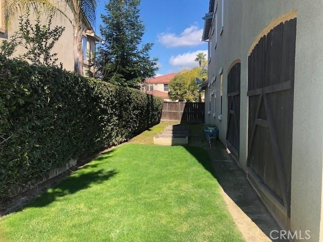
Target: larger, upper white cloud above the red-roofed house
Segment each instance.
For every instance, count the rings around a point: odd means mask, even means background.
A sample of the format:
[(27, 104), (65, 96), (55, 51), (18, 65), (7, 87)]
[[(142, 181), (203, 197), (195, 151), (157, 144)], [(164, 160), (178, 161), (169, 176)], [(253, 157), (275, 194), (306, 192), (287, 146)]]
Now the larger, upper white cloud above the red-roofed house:
[(158, 34), (158, 41), (166, 47), (195, 46), (202, 44), (201, 37), (203, 29), (199, 29), (196, 24), (186, 28), (180, 35), (174, 33)]

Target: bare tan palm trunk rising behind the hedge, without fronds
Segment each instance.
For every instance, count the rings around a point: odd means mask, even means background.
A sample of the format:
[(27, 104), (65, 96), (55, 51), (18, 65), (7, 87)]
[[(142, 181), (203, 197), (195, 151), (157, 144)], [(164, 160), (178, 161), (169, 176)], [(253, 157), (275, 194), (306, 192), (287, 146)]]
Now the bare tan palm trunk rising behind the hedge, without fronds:
[(74, 72), (83, 76), (82, 28), (77, 22), (74, 28)]

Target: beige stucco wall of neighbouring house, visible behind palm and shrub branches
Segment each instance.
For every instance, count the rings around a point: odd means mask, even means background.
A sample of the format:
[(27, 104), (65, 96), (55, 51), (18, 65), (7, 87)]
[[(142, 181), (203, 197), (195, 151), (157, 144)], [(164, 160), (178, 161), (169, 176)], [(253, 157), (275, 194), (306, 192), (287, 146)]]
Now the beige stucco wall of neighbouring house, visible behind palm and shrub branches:
[[(1, 0), (0, 0), (1, 3)], [(59, 1), (58, 5), (61, 6), (61, 9), (64, 10), (64, 13), (69, 17), (69, 19), (73, 19), (72, 17), (72, 12), (65, 5), (64, 1)], [(66, 6), (66, 7), (62, 7)], [(18, 22), (18, 17), (21, 14), (18, 14), (15, 19), (12, 20), (12, 24), (9, 28), (8, 31), (4, 31), (0, 29), (0, 41), (4, 39), (10, 38), (14, 32), (16, 32), (19, 29), (19, 22)], [(35, 20), (35, 15), (33, 12), (30, 13), (30, 20), (31, 24), (34, 24)], [(47, 24), (48, 20), (46, 17), (43, 15), (41, 17), (41, 22), (44, 24)], [(64, 17), (63, 15), (57, 14), (55, 17), (52, 19), (52, 24), (51, 28), (55, 27), (56, 25), (58, 26), (64, 26), (65, 31), (63, 32), (61, 38), (56, 42), (54, 47), (52, 48), (52, 53), (57, 53), (57, 64), (62, 63), (63, 68), (65, 68), (68, 71), (74, 71), (74, 42), (73, 42), (73, 36), (74, 36), (74, 31), (73, 31), (73, 26), (71, 22)], [(1, 26), (0, 26), (1, 27)], [(84, 32), (89, 29), (87, 24), (83, 24), (83, 29)], [(85, 33), (84, 33), (85, 34)], [(92, 52), (95, 51), (95, 39), (91, 36), (87, 36), (88, 41), (89, 41), (89, 46), (88, 48), (91, 49)], [(14, 53), (14, 56), (19, 56), (20, 54), (25, 53), (25, 48), (23, 46), (17, 47), (16, 52)], [(84, 74), (86, 74), (86, 68), (87, 66), (84, 65)]]

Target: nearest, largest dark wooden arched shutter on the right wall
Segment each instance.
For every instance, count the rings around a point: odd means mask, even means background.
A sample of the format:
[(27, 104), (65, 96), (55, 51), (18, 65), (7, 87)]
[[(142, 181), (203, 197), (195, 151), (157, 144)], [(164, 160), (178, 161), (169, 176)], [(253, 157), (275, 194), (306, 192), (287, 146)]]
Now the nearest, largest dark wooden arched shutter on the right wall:
[(254, 172), (288, 214), (295, 41), (296, 18), (263, 36), (248, 57), (248, 172)]

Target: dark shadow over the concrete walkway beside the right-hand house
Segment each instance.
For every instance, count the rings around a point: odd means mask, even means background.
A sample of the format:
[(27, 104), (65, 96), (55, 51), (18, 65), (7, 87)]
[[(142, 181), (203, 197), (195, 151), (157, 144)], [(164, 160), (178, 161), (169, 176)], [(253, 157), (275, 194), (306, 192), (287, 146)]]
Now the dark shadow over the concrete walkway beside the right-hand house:
[[(274, 229), (280, 230), (279, 225), (262, 204), (256, 192), (249, 184), (245, 172), (240, 169), (237, 163), (226, 152), (226, 147), (216, 141), (210, 149), (203, 140), (203, 126), (194, 125), (190, 127), (196, 136), (190, 137), (189, 145), (185, 149), (192, 154), (196, 160), (203, 165), (205, 170), (216, 178), (230, 199), (259, 227), (259, 229), (270, 237), (270, 232)], [(201, 156), (192, 147), (200, 147), (204, 150)], [(208, 156), (205, 159), (204, 155)], [(275, 240), (275, 241), (287, 241)]]

